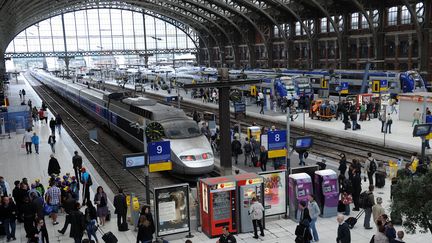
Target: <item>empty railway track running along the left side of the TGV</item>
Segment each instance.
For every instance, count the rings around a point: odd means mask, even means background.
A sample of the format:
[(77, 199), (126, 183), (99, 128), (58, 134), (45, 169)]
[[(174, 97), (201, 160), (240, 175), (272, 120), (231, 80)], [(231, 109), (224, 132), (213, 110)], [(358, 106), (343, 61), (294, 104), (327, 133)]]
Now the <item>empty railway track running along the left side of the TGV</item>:
[[(123, 188), (125, 192), (135, 193), (140, 203), (144, 203), (146, 201), (146, 185), (143, 169), (124, 170), (122, 168), (122, 155), (137, 151), (132, 151), (127, 143), (118, 137), (113, 137), (107, 129), (100, 128), (99, 124), (88, 118), (83, 111), (69, 104), (29, 74), (24, 75), (24, 77), (35, 84), (33, 85), (34, 90), (47, 104), (51, 112), (54, 115), (60, 114), (64, 121), (64, 128), (80, 146), (99, 174), (108, 179), (105, 180), (107, 184), (112, 189), (116, 189), (113, 190), (114, 193), (117, 189)], [(89, 139), (89, 131), (93, 129), (97, 129), (97, 143)], [(166, 173), (150, 174), (151, 190), (154, 187), (180, 182), (181, 180), (169, 177)]]

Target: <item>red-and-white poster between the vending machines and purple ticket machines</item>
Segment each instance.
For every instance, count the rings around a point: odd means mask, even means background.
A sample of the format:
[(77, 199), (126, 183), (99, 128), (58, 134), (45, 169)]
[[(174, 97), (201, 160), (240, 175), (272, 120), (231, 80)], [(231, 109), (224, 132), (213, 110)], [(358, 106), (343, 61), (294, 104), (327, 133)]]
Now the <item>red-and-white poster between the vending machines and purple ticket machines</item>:
[(286, 213), (285, 171), (260, 173), (264, 177), (264, 209), (266, 216)]

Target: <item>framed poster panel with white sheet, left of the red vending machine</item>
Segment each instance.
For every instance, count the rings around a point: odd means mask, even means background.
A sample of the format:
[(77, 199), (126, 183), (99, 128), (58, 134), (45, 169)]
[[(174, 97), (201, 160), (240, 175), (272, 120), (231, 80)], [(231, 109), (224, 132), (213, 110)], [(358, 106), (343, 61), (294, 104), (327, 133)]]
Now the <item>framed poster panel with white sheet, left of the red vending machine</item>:
[(157, 236), (190, 231), (189, 185), (155, 188)]

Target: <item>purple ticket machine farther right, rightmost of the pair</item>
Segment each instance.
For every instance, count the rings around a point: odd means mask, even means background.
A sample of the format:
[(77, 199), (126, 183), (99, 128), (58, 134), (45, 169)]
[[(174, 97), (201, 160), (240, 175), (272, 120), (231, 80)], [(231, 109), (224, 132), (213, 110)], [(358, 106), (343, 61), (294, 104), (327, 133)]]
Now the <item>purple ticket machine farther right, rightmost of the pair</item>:
[(322, 217), (337, 215), (339, 185), (336, 172), (333, 170), (315, 171), (315, 195)]

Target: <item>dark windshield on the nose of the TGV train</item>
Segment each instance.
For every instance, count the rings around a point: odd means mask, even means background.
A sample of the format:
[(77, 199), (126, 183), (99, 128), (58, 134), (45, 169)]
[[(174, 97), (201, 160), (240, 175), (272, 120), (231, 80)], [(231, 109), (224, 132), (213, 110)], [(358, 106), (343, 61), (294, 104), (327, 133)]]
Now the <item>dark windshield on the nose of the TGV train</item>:
[(171, 139), (192, 138), (201, 135), (201, 131), (194, 121), (177, 120), (163, 122), (165, 136)]

